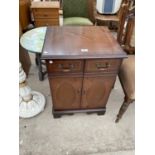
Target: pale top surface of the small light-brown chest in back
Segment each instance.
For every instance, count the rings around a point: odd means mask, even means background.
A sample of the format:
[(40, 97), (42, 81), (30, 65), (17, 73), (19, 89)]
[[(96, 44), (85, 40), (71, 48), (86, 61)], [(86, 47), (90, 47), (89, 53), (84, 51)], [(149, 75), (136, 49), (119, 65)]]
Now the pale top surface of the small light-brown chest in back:
[(31, 8), (59, 8), (60, 4), (58, 1), (53, 2), (31, 2)]

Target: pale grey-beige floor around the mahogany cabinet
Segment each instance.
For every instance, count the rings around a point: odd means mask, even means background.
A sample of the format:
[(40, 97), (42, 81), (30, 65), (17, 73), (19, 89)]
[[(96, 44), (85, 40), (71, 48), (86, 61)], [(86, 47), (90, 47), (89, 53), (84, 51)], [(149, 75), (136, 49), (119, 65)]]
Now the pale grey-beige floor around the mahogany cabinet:
[[(34, 56), (31, 55), (31, 59)], [(118, 124), (115, 118), (123, 101), (117, 79), (107, 104), (106, 114), (74, 114), (53, 119), (47, 77), (38, 80), (34, 61), (28, 77), (33, 90), (46, 97), (45, 110), (31, 119), (20, 119), (20, 155), (133, 155), (134, 103)]]

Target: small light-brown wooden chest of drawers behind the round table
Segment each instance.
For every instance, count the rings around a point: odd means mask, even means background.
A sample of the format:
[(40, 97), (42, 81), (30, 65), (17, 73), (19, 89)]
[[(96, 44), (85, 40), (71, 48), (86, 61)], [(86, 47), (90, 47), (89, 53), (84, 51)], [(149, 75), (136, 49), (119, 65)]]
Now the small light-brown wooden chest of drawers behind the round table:
[(35, 26), (59, 25), (59, 6), (59, 1), (32, 2)]

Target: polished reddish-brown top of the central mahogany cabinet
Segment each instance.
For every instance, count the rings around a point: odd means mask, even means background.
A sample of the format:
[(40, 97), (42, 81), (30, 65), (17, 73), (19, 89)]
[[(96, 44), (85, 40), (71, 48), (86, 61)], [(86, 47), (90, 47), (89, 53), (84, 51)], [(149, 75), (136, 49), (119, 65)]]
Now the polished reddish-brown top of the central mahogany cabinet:
[(104, 26), (52, 26), (46, 31), (42, 59), (124, 58), (116, 39)]

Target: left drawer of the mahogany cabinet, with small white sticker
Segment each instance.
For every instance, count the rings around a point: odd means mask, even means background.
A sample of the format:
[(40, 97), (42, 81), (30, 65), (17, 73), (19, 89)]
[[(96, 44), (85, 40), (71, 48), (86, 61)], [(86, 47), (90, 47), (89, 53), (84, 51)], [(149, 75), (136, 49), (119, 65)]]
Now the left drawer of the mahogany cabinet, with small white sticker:
[(82, 73), (82, 60), (47, 60), (47, 70), (49, 73)]

